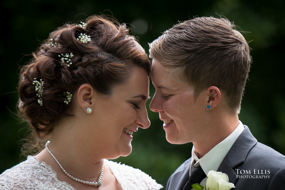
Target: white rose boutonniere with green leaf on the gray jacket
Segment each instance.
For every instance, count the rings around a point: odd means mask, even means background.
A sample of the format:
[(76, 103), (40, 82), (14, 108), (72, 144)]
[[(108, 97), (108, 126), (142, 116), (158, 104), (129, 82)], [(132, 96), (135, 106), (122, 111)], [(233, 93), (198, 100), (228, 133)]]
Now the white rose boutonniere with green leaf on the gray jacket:
[(231, 188), (235, 188), (233, 183), (229, 183), (229, 177), (227, 174), (219, 172), (219, 171), (209, 171), (207, 174), (207, 181), (204, 186), (196, 183), (192, 185), (192, 190), (229, 190)]

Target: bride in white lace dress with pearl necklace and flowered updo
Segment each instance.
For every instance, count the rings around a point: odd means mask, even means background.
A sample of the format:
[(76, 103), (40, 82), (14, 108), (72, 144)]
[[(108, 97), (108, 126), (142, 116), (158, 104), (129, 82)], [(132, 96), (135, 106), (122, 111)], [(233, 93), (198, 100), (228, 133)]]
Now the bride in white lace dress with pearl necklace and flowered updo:
[[(35, 156), (0, 175), (1, 189), (160, 189), (133, 167), (133, 133), (148, 128), (150, 62), (125, 24), (104, 16), (52, 32), (23, 67), (19, 111)], [(49, 140), (46, 142), (46, 140)]]

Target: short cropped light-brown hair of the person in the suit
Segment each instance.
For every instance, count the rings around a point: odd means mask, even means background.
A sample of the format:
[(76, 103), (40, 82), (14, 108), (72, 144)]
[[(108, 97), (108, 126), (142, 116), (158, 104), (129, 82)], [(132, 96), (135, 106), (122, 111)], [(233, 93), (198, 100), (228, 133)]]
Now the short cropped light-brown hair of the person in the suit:
[(228, 19), (196, 17), (178, 23), (149, 46), (150, 58), (193, 86), (195, 97), (216, 86), (229, 110), (239, 113), (252, 60), (247, 41)]

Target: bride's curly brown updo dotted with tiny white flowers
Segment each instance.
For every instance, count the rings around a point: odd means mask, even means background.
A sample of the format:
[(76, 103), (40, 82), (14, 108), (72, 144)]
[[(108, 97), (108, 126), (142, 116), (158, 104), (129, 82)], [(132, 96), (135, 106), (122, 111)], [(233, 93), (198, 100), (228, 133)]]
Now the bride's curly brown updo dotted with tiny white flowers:
[[(90, 36), (91, 41), (78, 41), (81, 33)], [(74, 55), (72, 64), (66, 66), (59, 55), (70, 53)], [(126, 82), (134, 67), (144, 68), (150, 76), (150, 61), (144, 49), (125, 24), (110, 17), (91, 16), (86, 23), (65, 24), (50, 33), (21, 70), (19, 115), (32, 127), (34, 140), (24, 149), (40, 150), (54, 123), (72, 116), (73, 99), (69, 104), (64, 103), (64, 92), (76, 94), (80, 85), (88, 83), (97, 93), (111, 95), (112, 87)], [(40, 79), (44, 81), (42, 105), (33, 84)]]

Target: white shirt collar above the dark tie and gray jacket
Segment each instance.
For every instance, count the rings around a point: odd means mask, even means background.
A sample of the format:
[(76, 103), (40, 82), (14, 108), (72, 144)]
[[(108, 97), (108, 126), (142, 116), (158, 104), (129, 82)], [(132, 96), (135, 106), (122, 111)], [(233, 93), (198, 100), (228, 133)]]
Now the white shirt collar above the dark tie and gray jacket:
[(225, 158), (225, 156), (227, 155), (227, 153), (229, 152), (229, 150), (231, 149), (231, 147), (244, 129), (245, 127), (243, 126), (243, 123), (239, 121), (238, 126), (231, 134), (229, 134), (229, 136), (227, 136), (219, 144), (214, 146), (209, 152), (207, 152), (207, 154), (205, 154), (200, 159), (194, 153), (195, 147), (193, 146), (190, 170), (194, 168), (192, 165), (194, 165), (196, 161), (195, 167), (201, 165), (206, 175), (210, 170), (217, 171), (223, 159)]

